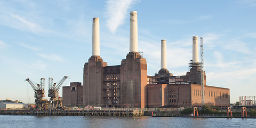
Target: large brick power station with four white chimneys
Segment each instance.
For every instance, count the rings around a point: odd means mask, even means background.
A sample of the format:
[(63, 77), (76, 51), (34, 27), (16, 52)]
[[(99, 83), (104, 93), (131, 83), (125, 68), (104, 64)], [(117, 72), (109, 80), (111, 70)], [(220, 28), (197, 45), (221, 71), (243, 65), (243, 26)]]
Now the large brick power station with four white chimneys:
[[(93, 18), (92, 56), (84, 64), (83, 86), (63, 86), (66, 107), (195, 107), (229, 106), (229, 89), (206, 86), (206, 75), (199, 63), (198, 37), (193, 36), (193, 60), (184, 76), (167, 70), (166, 40), (161, 41), (161, 69), (147, 75), (147, 61), (138, 52), (137, 12), (130, 13), (130, 52), (121, 65), (108, 66), (100, 57), (99, 18)], [(202, 87), (202, 85), (205, 85)], [(204, 97), (202, 97), (204, 95)]]

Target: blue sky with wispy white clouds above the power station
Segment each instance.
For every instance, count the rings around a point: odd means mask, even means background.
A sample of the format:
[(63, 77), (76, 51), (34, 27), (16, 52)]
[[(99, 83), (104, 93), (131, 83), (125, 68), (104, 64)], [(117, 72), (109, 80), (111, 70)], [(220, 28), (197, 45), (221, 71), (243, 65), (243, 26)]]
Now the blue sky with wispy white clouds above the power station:
[(49, 77), (69, 76), (62, 86), (83, 82), (94, 17), (100, 18), (101, 58), (121, 65), (129, 53), (131, 11), (138, 12), (138, 49), (148, 75), (161, 68), (161, 39), (167, 69), (186, 75), (198, 36), (204, 38), (206, 84), (229, 88), (230, 103), (256, 95), (255, 0), (9, 0), (0, 1), (0, 99), (35, 102), (26, 78), (45, 78), (46, 98)]

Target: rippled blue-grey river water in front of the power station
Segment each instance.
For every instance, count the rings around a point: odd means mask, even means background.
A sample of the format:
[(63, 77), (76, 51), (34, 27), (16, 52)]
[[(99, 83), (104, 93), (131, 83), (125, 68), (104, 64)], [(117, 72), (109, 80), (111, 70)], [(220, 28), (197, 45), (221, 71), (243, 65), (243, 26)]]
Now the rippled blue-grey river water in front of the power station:
[(0, 115), (0, 127), (256, 127), (256, 119)]

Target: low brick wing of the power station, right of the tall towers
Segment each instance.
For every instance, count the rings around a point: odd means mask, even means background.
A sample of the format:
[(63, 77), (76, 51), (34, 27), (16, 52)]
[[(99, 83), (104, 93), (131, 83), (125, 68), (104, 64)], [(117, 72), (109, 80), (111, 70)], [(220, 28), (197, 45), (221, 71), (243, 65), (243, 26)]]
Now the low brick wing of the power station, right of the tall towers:
[[(199, 84), (147, 85), (147, 107), (200, 107), (202, 91)], [(205, 86), (205, 105), (226, 108), (230, 105), (229, 89)]]

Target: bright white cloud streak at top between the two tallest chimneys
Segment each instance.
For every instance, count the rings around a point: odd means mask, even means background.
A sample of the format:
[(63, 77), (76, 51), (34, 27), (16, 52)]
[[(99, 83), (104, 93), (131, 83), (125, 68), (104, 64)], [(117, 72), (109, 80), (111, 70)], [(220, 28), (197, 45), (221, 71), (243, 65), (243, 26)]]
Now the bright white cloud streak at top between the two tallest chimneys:
[(109, 0), (106, 2), (106, 18), (107, 26), (111, 33), (115, 33), (118, 26), (124, 23), (124, 19), (128, 16), (128, 9), (137, 0)]

